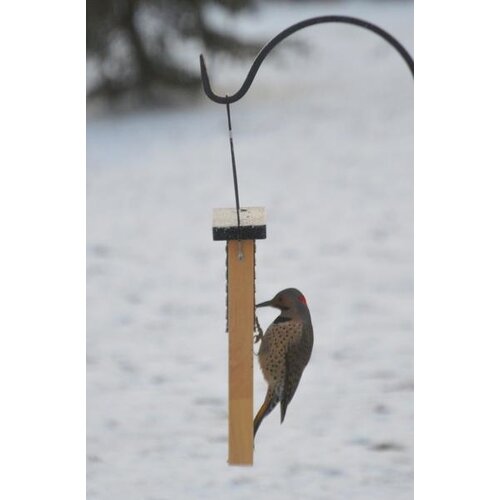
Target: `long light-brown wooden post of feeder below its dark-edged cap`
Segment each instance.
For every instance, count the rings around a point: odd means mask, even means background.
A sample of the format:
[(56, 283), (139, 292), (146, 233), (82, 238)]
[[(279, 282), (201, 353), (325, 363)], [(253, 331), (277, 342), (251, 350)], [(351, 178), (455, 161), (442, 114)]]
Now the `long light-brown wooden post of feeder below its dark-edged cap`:
[[(253, 464), (255, 241), (228, 241), (230, 465)], [(243, 259), (238, 258), (241, 250)]]

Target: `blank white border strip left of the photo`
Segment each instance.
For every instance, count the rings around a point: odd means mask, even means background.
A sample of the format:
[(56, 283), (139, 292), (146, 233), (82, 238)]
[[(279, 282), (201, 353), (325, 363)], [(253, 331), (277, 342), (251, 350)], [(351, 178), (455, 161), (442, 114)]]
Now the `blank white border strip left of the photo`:
[(9, 2), (0, 50), (0, 498), (85, 498), (85, 7)]

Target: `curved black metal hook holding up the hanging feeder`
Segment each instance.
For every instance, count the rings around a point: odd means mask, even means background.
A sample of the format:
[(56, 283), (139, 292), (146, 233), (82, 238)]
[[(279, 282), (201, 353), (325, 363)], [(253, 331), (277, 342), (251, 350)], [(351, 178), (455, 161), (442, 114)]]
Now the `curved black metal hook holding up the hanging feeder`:
[(264, 45), (261, 51), (257, 54), (257, 57), (255, 58), (255, 61), (253, 62), (252, 66), (250, 67), (250, 71), (248, 72), (248, 75), (245, 81), (243, 82), (243, 85), (241, 86), (240, 90), (238, 90), (238, 92), (236, 92), (231, 96), (219, 96), (213, 92), (212, 87), (210, 85), (210, 80), (208, 78), (207, 68), (205, 66), (205, 60), (203, 58), (203, 55), (200, 54), (201, 81), (203, 84), (203, 90), (205, 91), (205, 94), (207, 94), (209, 99), (219, 104), (227, 104), (238, 101), (248, 92), (248, 89), (250, 88), (250, 85), (252, 85), (252, 82), (255, 78), (255, 75), (257, 74), (260, 65), (262, 64), (266, 56), (269, 54), (269, 52), (271, 52), (271, 50), (274, 47), (276, 47), (278, 43), (280, 43), (282, 40), (289, 37), (296, 31), (299, 31), (303, 28), (307, 28), (308, 26), (313, 26), (315, 24), (322, 24), (322, 23), (352, 24), (354, 26), (360, 26), (361, 28), (373, 31), (377, 35), (381, 36), (384, 40), (386, 40), (390, 45), (392, 45), (398, 51), (399, 55), (404, 59), (413, 76), (412, 57), (410, 56), (408, 51), (392, 35), (387, 33), (387, 31), (383, 30), (382, 28), (379, 28), (375, 24), (369, 23), (368, 21), (363, 21), (362, 19), (358, 19), (356, 17), (320, 16), (320, 17), (313, 17), (310, 19), (306, 19), (305, 21), (301, 21), (300, 23), (297, 24), (293, 24), (292, 26), (288, 27), (287, 29), (283, 30), (281, 33), (276, 35), (266, 45)]

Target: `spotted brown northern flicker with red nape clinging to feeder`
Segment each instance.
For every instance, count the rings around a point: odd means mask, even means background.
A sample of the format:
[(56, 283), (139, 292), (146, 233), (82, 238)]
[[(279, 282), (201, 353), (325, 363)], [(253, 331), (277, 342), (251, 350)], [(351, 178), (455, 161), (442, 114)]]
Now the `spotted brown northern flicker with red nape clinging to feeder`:
[(313, 328), (306, 299), (296, 288), (287, 288), (255, 307), (272, 306), (280, 315), (267, 328), (259, 349), (259, 364), (268, 384), (266, 398), (253, 422), (253, 434), (274, 407), (281, 403), (281, 422), (309, 362)]

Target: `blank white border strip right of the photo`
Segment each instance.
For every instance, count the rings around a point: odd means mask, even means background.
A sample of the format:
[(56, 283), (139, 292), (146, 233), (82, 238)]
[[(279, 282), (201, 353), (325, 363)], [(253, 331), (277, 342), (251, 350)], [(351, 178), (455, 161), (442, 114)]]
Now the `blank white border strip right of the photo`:
[(500, 498), (495, 11), (415, 9), (417, 500)]

